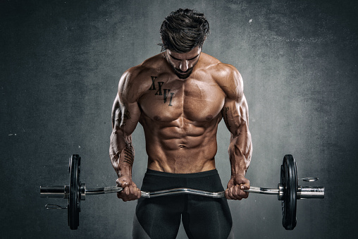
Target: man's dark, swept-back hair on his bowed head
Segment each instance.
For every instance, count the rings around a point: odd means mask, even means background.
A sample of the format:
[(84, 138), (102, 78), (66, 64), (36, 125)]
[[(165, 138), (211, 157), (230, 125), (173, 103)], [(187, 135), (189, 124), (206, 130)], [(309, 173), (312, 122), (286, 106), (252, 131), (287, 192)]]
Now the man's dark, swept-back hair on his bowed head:
[(186, 53), (195, 47), (202, 47), (209, 34), (209, 23), (203, 13), (191, 9), (171, 12), (161, 24), (161, 51), (169, 49)]

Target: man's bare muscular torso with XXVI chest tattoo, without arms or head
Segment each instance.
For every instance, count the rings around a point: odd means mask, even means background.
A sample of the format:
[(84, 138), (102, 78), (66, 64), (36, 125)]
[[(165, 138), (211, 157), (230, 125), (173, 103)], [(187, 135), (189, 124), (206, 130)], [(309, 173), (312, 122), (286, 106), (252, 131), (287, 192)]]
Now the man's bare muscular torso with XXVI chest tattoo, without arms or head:
[(224, 64), (202, 53), (192, 74), (179, 79), (163, 54), (135, 69), (148, 168), (195, 173), (215, 168), (216, 131), (226, 92)]

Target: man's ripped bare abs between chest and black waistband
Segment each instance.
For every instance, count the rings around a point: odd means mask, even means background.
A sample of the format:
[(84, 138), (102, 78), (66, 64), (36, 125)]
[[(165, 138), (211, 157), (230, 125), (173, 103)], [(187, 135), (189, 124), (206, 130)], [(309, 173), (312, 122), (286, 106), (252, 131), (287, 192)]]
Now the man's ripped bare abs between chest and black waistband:
[(216, 130), (221, 117), (202, 125), (179, 118), (158, 123), (144, 117), (148, 168), (167, 173), (198, 173), (215, 169)]

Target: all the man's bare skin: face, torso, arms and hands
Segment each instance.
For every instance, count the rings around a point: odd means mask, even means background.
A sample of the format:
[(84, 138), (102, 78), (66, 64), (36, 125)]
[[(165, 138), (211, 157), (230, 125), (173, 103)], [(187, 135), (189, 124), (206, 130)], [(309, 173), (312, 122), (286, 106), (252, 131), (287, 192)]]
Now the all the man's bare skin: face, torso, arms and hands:
[(126, 71), (113, 103), (109, 154), (123, 201), (140, 198), (132, 182), (132, 132), (144, 128), (148, 168), (168, 173), (215, 169), (216, 133), (223, 119), (230, 130), (231, 179), (226, 197), (247, 198), (245, 173), (252, 154), (248, 107), (240, 73), (195, 47), (166, 50)]

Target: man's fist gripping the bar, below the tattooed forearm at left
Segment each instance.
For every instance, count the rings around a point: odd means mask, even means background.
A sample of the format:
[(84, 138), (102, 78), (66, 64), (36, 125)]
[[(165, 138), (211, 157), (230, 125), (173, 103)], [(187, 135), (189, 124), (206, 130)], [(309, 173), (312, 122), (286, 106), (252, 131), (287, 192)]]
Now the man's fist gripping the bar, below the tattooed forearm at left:
[(123, 188), (121, 192), (117, 192), (117, 197), (124, 202), (137, 200), (140, 198), (140, 189), (133, 183), (130, 176), (122, 176), (116, 180), (118, 187)]

